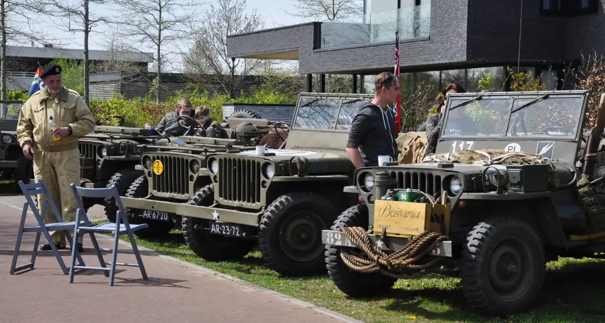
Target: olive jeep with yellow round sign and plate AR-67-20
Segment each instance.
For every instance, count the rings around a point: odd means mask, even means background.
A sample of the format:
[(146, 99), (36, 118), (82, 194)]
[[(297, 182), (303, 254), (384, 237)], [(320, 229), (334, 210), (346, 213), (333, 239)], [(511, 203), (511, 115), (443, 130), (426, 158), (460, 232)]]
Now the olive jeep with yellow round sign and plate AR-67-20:
[[(283, 122), (270, 122), (267, 119), (240, 118), (248, 116), (246, 110), (235, 111), (223, 125), (221, 138), (179, 137), (187, 145), (142, 145), (146, 149), (136, 166), (141, 175), (132, 182), (126, 197), (145, 198), (139, 206), (127, 209), (133, 223), (146, 223), (146, 229), (138, 230), (139, 237), (157, 237), (165, 235), (181, 219), (177, 214), (159, 212), (152, 209), (149, 201), (171, 201), (186, 203), (198, 189), (211, 184), (206, 155), (240, 152), (255, 149), (257, 145), (279, 148), (287, 138), (289, 125)], [(252, 116), (252, 114), (249, 114)], [(271, 134), (271, 135), (269, 135)], [(270, 138), (278, 140), (267, 140)]]

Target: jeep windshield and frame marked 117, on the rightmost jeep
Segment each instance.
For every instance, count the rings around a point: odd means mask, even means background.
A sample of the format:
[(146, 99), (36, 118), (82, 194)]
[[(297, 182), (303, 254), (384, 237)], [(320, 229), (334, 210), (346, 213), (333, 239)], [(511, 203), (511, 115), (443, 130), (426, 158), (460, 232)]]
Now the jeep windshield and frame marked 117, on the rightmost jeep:
[[(572, 166), (578, 161), (588, 91), (481, 93), (481, 100), (450, 109), (477, 94), (450, 94), (436, 154), (503, 149), (538, 154)], [(450, 125), (453, 113), (458, 114), (456, 128)]]

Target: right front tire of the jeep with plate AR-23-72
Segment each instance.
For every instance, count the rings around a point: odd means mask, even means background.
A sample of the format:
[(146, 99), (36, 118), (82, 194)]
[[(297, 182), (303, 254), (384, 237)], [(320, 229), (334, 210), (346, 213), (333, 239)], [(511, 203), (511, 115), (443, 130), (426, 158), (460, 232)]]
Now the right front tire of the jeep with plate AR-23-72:
[(327, 230), (338, 210), (332, 202), (312, 192), (290, 192), (276, 198), (264, 212), (258, 232), (258, 249), (268, 267), (283, 276), (325, 273)]

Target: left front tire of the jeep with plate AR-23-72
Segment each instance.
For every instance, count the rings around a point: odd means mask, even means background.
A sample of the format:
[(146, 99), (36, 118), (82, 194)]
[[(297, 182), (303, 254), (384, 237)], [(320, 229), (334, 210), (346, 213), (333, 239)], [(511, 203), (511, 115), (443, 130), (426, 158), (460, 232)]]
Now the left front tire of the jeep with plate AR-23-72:
[[(214, 201), (212, 184), (199, 189), (187, 204), (211, 206)], [(256, 240), (214, 235), (208, 229), (208, 220), (183, 217), (181, 226), (185, 243), (196, 255), (207, 261), (238, 260), (244, 258), (256, 245)]]

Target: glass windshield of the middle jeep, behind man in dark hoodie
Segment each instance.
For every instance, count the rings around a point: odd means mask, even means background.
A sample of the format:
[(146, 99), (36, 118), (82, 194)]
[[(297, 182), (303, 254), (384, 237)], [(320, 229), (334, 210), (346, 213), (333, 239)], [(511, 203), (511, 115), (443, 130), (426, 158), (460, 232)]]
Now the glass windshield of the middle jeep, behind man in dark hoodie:
[(294, 117), (292, 129), (315, 129), (315, 130), (349, 130), (353, 117), (368, 98), (352, 94), (347, 97), (305, 97), (299, 99), (299, 107)]

